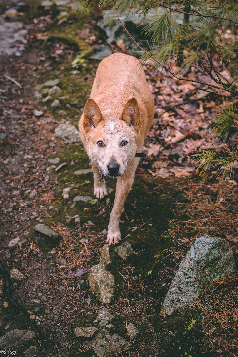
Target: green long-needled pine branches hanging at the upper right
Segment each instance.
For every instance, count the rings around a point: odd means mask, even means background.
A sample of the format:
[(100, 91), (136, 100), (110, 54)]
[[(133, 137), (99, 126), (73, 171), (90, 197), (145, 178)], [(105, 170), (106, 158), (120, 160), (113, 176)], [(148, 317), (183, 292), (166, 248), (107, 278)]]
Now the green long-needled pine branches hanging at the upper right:
[[(238, 127), (238, 1), (86, 0), (86, 7), (92, 5), (118, 11), (119, 17), (125, 11), (135, 11), (141, 22), (146, 22), (143, 31), (150, 51), (141, 49), (142, 64), (150, 59), (155, 70), (168, 71), (177, 79), (186, 79), (191, 67), (199, 67), (212, 79), (194, 82), (199, 89), (226, 98), (226, 106), (212, 116), (211, 131), (228, 142)], [(179, 68), (175, 73), (173, 61)], [(219, 70), (215, 61), (221, 64)], [(231, 177), (238, 168), (238, 150), (231, 144), (229, 148), (219, 153), (198, 150), (198, 171), (204, 174), (212, 169), (217, 176)]]

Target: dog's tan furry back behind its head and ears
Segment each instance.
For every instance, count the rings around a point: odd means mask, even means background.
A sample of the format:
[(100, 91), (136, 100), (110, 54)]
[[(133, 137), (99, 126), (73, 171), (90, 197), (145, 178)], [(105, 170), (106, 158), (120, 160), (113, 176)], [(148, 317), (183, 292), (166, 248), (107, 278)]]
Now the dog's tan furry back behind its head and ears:
[(91, 91), (91, 98), (98, 103), (103, 118), (112, 120), (115, 112), (120, 116), (126, 101), (132, 97), (138, 101), (145, 135), (154, 116), (154, 103), (139, 61), (122, 53), (114, 53), (103, 59)]

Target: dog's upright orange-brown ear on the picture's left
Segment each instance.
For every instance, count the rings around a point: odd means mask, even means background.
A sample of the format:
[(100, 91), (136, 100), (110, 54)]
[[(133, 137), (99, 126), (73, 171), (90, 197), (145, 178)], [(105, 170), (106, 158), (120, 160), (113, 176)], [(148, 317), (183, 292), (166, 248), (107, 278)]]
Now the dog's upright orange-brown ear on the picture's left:
[(92, 98), (88, 98), (83, 114), (83, 127), (86, 133), (95, 128), (101, 120), (102, 113), (99, 106)]

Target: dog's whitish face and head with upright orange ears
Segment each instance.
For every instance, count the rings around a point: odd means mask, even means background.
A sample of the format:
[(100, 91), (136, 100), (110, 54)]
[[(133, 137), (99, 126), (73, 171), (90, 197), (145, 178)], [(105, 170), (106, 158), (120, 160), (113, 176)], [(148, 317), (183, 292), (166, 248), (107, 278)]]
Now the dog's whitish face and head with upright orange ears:
[(130, 99), (115, 116), (104, 120), (96, 102), (87, 100), (83, 114), (87, 154), (105, 176), (111, 177), (121, 176), (128, 161), (135, 157), (141, 127), (137, 100)]

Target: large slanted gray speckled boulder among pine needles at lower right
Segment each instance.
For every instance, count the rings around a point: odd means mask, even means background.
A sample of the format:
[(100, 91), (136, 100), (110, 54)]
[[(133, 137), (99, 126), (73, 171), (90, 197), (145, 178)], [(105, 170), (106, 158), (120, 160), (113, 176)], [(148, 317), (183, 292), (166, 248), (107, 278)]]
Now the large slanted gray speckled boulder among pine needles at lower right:
[(232, 275), (234, 271), (234, 255), (224, 239), (197, 238), (171, 282), (161, 315), (171, 315), (173, 311), (195, 302), (206, 285)]

